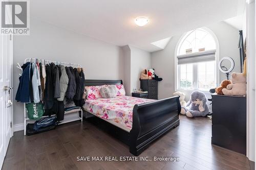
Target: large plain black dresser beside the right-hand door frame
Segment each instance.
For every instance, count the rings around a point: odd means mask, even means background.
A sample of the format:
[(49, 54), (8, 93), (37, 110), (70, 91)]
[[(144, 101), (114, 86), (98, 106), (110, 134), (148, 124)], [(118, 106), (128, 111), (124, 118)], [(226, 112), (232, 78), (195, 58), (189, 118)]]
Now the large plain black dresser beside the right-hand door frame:
[(211, 143), (246, 155), (246, 97), (211, 96)]

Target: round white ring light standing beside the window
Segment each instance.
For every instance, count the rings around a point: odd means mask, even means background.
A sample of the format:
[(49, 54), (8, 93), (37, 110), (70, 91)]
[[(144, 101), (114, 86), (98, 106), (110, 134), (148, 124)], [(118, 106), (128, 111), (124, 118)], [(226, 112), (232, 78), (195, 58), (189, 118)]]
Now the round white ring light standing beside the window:
[(229, 72), (234, 69), (234, 60), (230, 57), (223, 57), (219, 61), (219, 69), (226, 74), (228, 80)]

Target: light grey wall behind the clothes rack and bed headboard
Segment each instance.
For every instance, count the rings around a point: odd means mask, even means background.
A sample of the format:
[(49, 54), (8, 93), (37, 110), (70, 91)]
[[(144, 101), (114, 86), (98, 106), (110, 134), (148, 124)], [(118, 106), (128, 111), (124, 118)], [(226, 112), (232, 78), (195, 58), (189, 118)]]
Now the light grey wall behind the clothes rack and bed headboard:
[[(13, 45), (14, 96), (18, 87), (16, 63), (38, 58), (79, 63), (86, 79), (123, 79), (121, 47), (89, 38), (35, 19), (30, 21), (29, 36), (15, 36)], [(14, 102), (14, 126), (24, 121), (23, 104)]]

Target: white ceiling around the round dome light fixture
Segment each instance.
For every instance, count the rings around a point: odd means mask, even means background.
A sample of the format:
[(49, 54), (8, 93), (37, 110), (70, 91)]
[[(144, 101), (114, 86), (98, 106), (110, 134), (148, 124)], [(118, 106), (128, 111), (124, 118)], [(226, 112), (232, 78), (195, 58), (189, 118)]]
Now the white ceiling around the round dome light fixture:
[[(242, 0), (33, 0), (32, 18), (123, 46), (131, 44), (148, 52), (161, 50), (151, 44), (210, 23), (241, 15)], [(144, 27), (134, 23), (147, 16)]]

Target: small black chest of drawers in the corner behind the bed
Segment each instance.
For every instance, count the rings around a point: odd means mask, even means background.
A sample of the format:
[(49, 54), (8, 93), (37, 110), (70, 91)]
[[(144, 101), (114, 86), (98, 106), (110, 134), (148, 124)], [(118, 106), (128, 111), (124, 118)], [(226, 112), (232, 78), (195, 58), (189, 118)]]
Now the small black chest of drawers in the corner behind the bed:
[(140, 80), (140, 88), (148, 92), (148, 99), (158, 100), (157, 84), (156, 80)]

